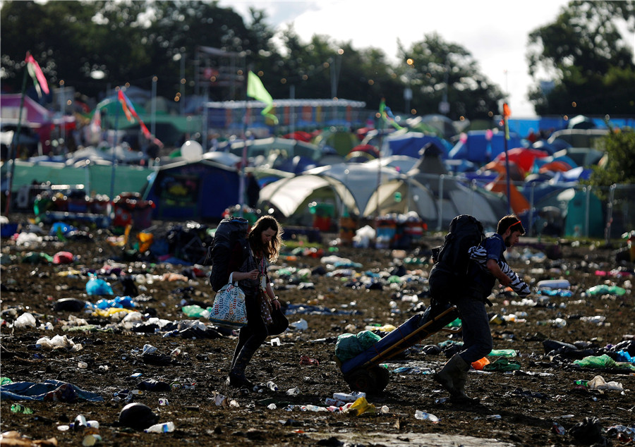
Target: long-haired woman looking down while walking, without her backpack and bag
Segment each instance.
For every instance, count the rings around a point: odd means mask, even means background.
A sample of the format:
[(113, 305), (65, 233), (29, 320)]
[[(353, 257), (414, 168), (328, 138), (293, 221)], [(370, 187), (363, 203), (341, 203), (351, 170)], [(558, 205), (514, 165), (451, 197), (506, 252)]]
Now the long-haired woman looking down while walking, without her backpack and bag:
[(267, 325), (272, 324), (272, 310), (280, 309), (267, 269), (278, 259), (282, 247), (282, 227), (273, 216), (262, 216), (250, 229), (247, 241), (249, 254), (246, 257), (237, 246), (229, 258), (229, 271), (245, 293), (247, 311), (247, 325), (238, 334), (227, 378), (229, 385), (236, 388), (253, 388), (245, 369), (269, 335)]

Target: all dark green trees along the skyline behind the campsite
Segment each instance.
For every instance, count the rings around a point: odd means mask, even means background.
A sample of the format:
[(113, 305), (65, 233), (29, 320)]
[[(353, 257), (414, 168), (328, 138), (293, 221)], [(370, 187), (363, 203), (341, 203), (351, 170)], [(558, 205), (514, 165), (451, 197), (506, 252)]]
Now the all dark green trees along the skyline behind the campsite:
[[(197, 49), (211, 47), (236, 54), (241, 73), (232, 74), (257, 72), (274, 98), (335, 93), (369, 109), (385, 98), (393, 111), (418, 115), (438, 113), (447, 102), (454, 120), (489, 119), (505, 99), (468, 50), (435, 33), (399, 45), (391, 63), (380, 49), (325, 35), (302, 42), (293, 26), (276, 46), (265, 11), (251, 8), (246, 23), (217, 1), (4, 1), (0, 8), (4, 92), (20, 91), (30, 51), (52, 86), (73, 86), (84, 99), (117, 85), (149, 89), (155, 76), (157, 94), (170, 99), (195, 94), (201, 79), (212, 100), (244, 99), (239, 83), (214, 85), (217, 71), (197, 64)], [(545, 20), (528, 35), (526, 55), (536, 113), (634, 114), (635, 1), (571, 1)], [(549, 88), (540, 83), (545, 73), (554, 81)]]

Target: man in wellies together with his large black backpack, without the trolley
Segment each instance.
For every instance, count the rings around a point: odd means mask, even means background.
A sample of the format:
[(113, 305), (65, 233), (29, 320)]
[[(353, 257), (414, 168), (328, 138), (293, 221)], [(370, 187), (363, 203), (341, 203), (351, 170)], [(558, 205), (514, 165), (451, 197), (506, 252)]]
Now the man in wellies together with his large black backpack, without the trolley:
[[(514, 214), (500, 219), (496, 233), (483, 239), (480, 244), (476, 244), (481, 252), (481, 262), (470, 262), (467, 253), (471, 251), (466, 247), (478, 240), (476, 224), (480, 226), (482, 232), (483, 226), (472, 216), (461, 215), (452, 221), (450, 233), (446, 236), (442, 250), (437, 254), (437, 264), (433, 267), (433, 271), (430, 271), (430, 295), (433, 301), (452, 302), (461, 315), (463, 349), (450, 358), (441, 371), (433, 376), (435, 381), (450, 393), (451, 400), (456, 403), (478, 401), (478, 398), (472, 399), (466, 395), (465, 384), (471, 363), (485, 357), (492, 350), (492, 333), (485, 302), (490, 303), (488, 296), (492, 293), (496, 280), (502, 286), (512, 286), (522, 295), (527, 295), (529, 290), (528, 286), (509, 269), (504, 260), (507, 247), (516, 245), (519, 237), (525, 233), (520, 219)], [(457, 231), (454, 231), (455, 234), (451, 237), (454, 228)], [(475, 231), (474, 228), (477, 230)], [(471, 237), (465, 236), (470, 233), (473, 234)], [(461, 235), (464, 235), (464, 241), (461, 240)], [(459, 245), (462, 246), (459, 248)], [(456, 271), (448, 267), (447, 264), (450, 262), (459, 263), (451, 257), (453, 247), (460, 253), (461, 260), (464, 260), (465, 270)], [(458, 258), (459, 255), (456, 257)], [(508, 274), (504, 273), (502, 267)]]

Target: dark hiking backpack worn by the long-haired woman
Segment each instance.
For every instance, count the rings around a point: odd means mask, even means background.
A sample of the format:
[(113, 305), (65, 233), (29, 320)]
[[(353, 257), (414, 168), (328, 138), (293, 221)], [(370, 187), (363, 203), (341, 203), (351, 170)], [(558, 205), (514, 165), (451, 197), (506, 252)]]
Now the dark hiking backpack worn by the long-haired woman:
[(243, 217), (226, 217), (218, 224), (210, 250), (212, 262), (210, 284), (214, 292), (218, 292), (229, 282), (229, 259), (236, 244), (239, 243), (243, 250), (243, 259), (248, 255), (248, 230), (249, 223)]

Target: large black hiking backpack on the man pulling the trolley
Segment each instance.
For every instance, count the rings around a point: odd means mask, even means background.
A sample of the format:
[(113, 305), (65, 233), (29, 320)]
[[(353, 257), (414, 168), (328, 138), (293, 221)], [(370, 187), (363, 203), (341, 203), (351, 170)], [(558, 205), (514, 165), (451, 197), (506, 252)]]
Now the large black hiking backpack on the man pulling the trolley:
[(461, 214), (452, 219), (443, 245), (433, 248), (435, 265), (428, 278), (430, 296), (438, 301), (451, 301), (466, 286), (470, 265), (468, 250), (483, 242), (483, 224), (474, 216)]

